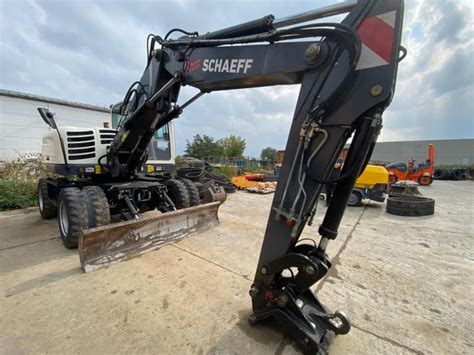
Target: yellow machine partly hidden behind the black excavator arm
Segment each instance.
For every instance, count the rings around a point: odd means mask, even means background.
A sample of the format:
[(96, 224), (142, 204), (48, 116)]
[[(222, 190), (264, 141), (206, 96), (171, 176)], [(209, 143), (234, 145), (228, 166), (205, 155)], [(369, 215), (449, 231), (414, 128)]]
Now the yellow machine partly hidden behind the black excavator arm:
[(357, 179), (349, 206), (360, 206), (363, 199), (384, 202), (388, 186), (388, 172), (383, 166), (367, 165), (362, 175)]

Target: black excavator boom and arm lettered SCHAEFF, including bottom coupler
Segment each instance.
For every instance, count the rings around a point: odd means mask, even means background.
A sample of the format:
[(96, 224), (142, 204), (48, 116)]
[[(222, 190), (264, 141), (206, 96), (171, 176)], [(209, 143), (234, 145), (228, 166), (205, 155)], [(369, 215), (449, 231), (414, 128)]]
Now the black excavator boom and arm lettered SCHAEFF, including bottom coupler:
[[(340, 23), (313, 21), (342, 13), (347, 15)], [(350, 329), (347, 316), (326, 309), (310, 287), (331, 268), (328, 243), (337, 237), (392, 100), (405, 55), (402, 20), (403, 0), (359, 0), (283, 19), (269, 15), (204, 35), (183, 30), (176, 39), (170, 38), (173, 31), (164, 38), (151, 35), (147, 67), (125, 97), (127, 119), (107, 155), (110, 174), (128, 176), (153, 133), (203, 94), (301, 85), (250, 289), (250, 321), (275, 319), (308, 353), (325, 353), (333, 335)], [(184, 85), (199, 92), (178, 105)], [(329, 180), (349, 138), (341, 176)], [(302, 242), (325, 184), (335, 189), (320, 239)]]

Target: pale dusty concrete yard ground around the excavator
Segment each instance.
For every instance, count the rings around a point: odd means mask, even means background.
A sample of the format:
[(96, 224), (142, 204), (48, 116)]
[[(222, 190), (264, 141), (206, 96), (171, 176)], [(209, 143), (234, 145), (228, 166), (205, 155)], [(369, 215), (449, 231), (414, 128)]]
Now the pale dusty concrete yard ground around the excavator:
[[(435, 215), (347, 209), (328, 249), (334, 266), (315, 287), (353, 324), (331, 354), (474, 352), (474, 183), (422, 192)], [(218, 227), (89, 274), (56, 220), (0, 214), (0, 353), (296, 353), (277, 328), (247, 323), (271, 200), (232, 194)], [(318, 224), (304, 237), (317, 238)]]

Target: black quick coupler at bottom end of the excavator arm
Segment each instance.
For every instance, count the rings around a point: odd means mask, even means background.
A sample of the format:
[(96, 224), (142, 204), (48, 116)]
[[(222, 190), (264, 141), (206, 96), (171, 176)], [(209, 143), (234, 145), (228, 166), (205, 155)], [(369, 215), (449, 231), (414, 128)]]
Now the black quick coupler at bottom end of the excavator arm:
[[(297, 253), (262, 265), (249, 292), (253, 304), (249, 323), (272, 318), (305, 354), (327, 354), (332, 338), (351, 328), (344, 312), (329, 311), (309, 289), (329, 267), (326, 258)], [(283, 276), (284, 270), (292, 270), (291, 276)]]

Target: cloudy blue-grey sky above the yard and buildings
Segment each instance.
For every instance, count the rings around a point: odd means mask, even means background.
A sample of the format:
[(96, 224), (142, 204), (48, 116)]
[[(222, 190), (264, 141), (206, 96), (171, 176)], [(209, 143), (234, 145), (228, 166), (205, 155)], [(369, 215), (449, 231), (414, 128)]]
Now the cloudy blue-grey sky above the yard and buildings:
[[(0, 88), (108, 107), (140, 78), (149, 33), (205, 33), (335, 2), (0, 0)], [(473, 138), (474, 1), (405, 0), (402, 45), (408, 56), (379, 141)], [(248, 156), (284, 149), (298, 91), (204, 95), (175, 120), (178, 153), (195, 134), (239, 135)]]

